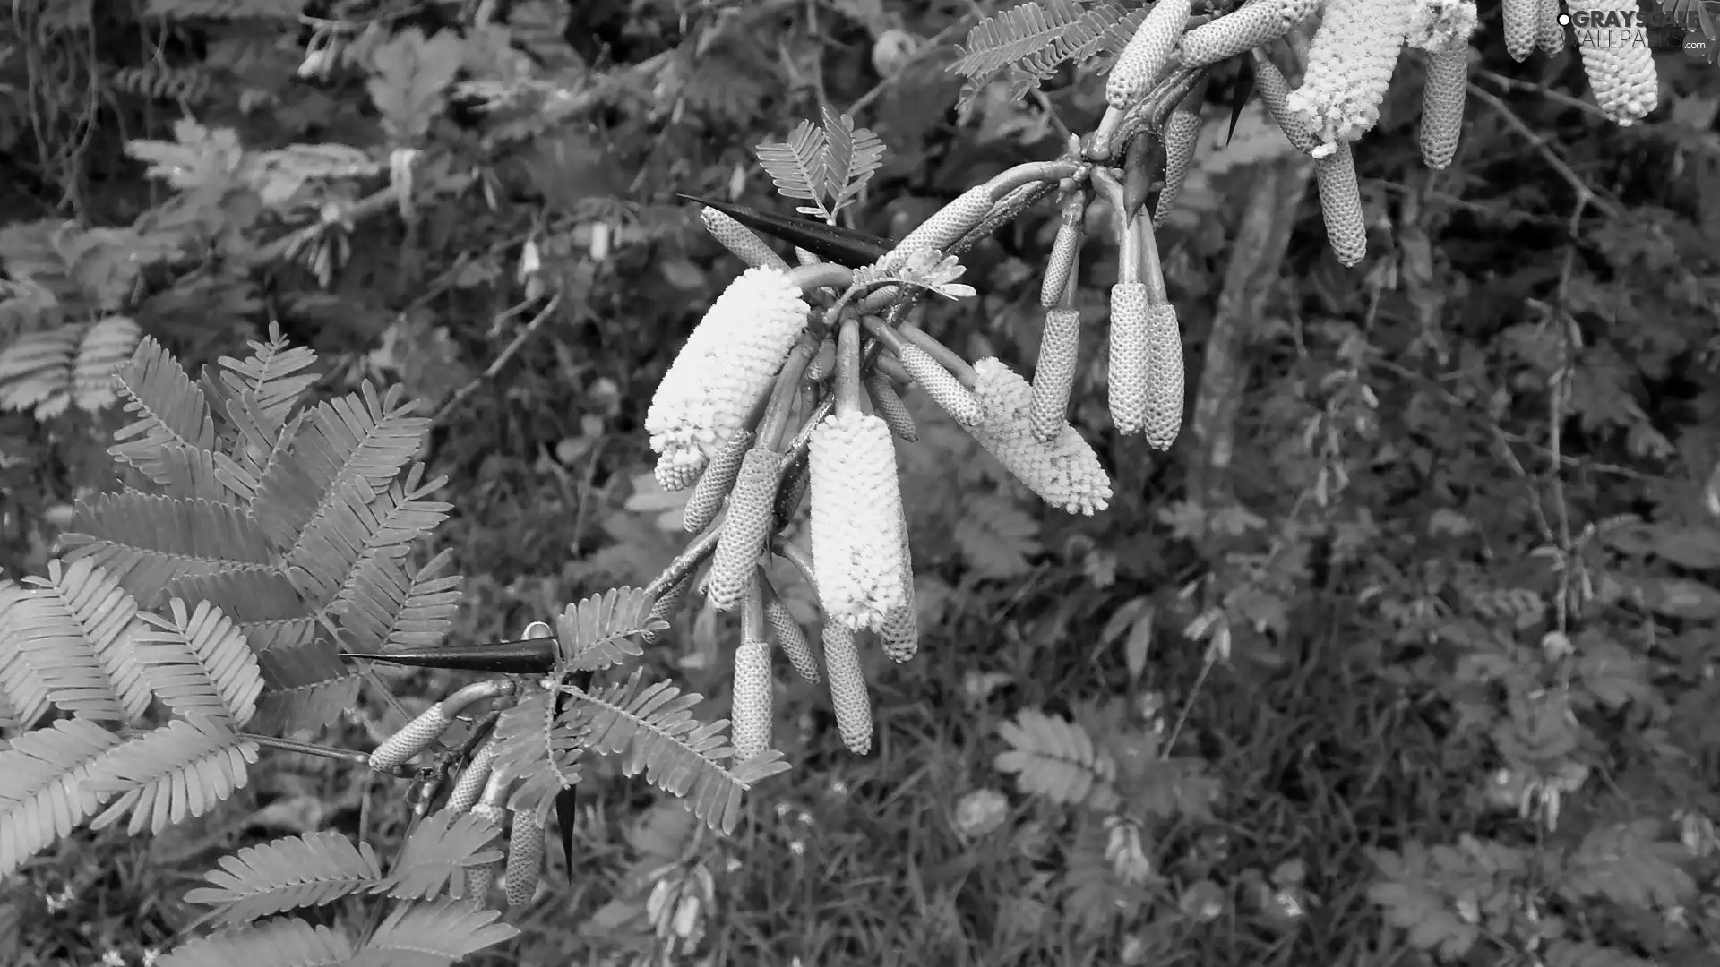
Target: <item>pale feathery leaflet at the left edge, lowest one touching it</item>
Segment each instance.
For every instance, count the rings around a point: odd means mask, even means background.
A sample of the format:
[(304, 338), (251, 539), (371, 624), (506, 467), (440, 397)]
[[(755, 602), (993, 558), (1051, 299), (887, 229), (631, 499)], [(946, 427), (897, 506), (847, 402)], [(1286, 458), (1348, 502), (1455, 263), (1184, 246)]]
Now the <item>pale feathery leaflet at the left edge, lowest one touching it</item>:
[(0, 878), (83, 826), (103, 797), (86, 786), (120, 736), (88, 719), (26, 731), (0, 752)]

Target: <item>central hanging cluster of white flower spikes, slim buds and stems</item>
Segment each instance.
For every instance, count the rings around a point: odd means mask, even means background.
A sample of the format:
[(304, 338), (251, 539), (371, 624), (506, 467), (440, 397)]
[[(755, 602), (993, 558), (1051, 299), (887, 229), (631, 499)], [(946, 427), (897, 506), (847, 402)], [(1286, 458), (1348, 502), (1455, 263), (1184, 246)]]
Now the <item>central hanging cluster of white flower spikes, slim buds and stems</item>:
[[(1108, 334), (1113, 423), (1156, 449), (1176, 439), (1185, 394), (1182, 332), (1152, 217), (1140, 212), (1146, 189), (1139, 176), (1094, 163), (1085, 150), (1072, 141), (1056, 162), (1018, 165), (963, 193), (882, 258), (853, 267), (819, 262), (798, 246), (800, 265), (791, 267), (748, 225), (710, 206), (702, 212), (710, 234), (748, 268), (671, 363), (645, 428), (659, 454), (657, 482), (691, 489), (683, 523), (700, 537), (688, 554), (709, 561), (700, 580), (686, 568), (659, 611), (667, 614), (700, 587), (712, 607), (741, 616), (731, 711), (738, 757), (769, 745), (772, 645), (803, 678), (827, 683), (843, 740), (855, 752), (872, 742), (862, 644), (875, 638), (894, 661), (918, 649), (896, 470), (896, 440), (918, 437), (901, 401), (908, 387), (1046, 502), (1082, 514), (1108, 506), (1109, 478), (1068, 423), (1082, 341), (1077, 263), (1087, 224), (1109, 222), (1118, 249)], [(955, 255), (1053, 191), (1060, 225), (1041, 286), (1046, 323), (1032, 380), (998, 358), (968, 363), (906, 322), (927, 291), (972, 293), (946, 287), (960, 274)], [(776, 224), (767, 231), (783, 234)], [(807, 501), (802, 540), (789, 535), (789, 525)], [(789, 561), (814, 590), (822, 647), (783, 606), (767, 566), (772, 556)]]

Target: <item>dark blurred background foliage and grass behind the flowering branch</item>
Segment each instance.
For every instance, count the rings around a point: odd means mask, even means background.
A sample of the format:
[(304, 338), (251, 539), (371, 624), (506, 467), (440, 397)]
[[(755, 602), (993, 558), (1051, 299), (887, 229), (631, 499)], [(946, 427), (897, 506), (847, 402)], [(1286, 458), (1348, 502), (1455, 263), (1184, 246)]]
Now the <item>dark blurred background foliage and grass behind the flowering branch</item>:
[[(681, 535), (642, 408), (740, 268), (674, 193), (788, 210), (752, 148), (834, 105), (889, 150), (850, 212), (900, 236), (1104, 107), (1068, 67), (963, 89), (953, 43), (991, 3), (464, 7), (12, 5), (7, 576), (46, 573), (72, 499), (115, 485), (100, 373), (141, 336), (196, 372), (279, 320), (320, 354), (315, 392), (368, 377), (435, 416), (420, 458), (454, 509), (430, 551), (470, 575), (456, 637), (643, 583)], [(1617, 129), (1574, 52), (1515, 65), (1496, 38), (1484, 10), (1447, 172), (1419, 163), (1419, 79), (1400, 72), (1357, 150), (1357, 270), (1307, 198), (1280, 270), (1226, 277), (1269, 201), (1250, 186), (1295, 165), (1247, 112), (1226, 139), (1221, 76), (1159, 236), (1204, 373), (1183, 442), (1111, 444), (1113, 508), (1068, 518), (910, 399), (927, 647), (869, 668), (877, 752), (841, 752), (817, 690), (786, 687), (795, 771), (731, 840), (593, 767), (581, 869), (490, 953), (626, 962), (664, 943), (662, 883), (716, 879), (702, 936), (674, 941), (690, 962), (1715, 957), (1720, 93), (1667, 53), (1665, 107)], [(1054, 227), (1039, 210), (967, 256), (980, 298), (929, 329), (1029, 363)], [(1106, 258), (1089, 255), (1089, 318)], [(1264, 311), (1216, 337), (1249, 284)], [(1075, 420), (1106, 439), (1087, 399)], [(733, 637), (683, 614), (647, 662), (721, 700)], [(323, 740), (368, 748), (401, 724), (366, 702)], [(143, 964), (201, 915), (182, 898), (215, 855), (273, 836), (399, 847), (392, 781), (265, 766), (239, 812), (79, 833), (7, 879), (0, 960)]]

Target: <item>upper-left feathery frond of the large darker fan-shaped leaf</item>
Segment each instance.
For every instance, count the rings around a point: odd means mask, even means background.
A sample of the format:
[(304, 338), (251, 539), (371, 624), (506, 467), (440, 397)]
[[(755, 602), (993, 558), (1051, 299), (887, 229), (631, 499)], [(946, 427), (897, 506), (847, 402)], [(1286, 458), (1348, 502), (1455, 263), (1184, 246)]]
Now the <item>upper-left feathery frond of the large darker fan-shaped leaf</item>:
[(108, 447), (114, 459), (165, 485), (175, 477), (175, 458), (187, 461), (187, 451), (213, 456), (215, 420), (203, 391), (153, 337), (138, 344), (114, 382), (131, 415), (131, 422), (114, 432), (115, 442)]

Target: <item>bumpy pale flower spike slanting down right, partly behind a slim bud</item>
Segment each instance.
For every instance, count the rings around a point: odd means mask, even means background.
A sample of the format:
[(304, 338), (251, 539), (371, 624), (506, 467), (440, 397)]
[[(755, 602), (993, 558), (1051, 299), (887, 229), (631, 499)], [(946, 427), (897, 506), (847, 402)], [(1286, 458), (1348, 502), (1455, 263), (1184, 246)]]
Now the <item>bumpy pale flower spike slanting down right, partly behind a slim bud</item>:
[(1092, 514), (1111, 501), (1111, 480), (1087, 440), (1073, 427), (1049, 444), (1034, 439), (1029, 410), (1034, 387), (994, 358), (974, 363), (974, 387), (986, 420), (970, 432), (986, 453), (1042, 501), (1068, 513)]

